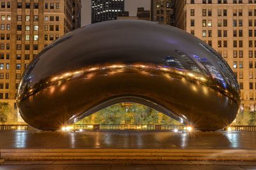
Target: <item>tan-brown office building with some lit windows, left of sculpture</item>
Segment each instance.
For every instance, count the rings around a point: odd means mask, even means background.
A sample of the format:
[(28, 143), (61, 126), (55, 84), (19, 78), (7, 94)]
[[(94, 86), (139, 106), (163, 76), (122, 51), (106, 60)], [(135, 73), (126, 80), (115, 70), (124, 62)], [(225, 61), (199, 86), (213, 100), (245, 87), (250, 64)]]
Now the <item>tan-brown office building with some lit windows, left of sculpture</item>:
[[(29, 62), (52, 41), (80, 27), (81, 0), (1, 0), (0, 5), (0, 103), (15, 109), (17, 86)], [(15, 115), (14, 110), (8, 122), (16, 122)]]

